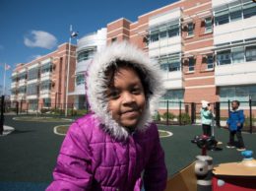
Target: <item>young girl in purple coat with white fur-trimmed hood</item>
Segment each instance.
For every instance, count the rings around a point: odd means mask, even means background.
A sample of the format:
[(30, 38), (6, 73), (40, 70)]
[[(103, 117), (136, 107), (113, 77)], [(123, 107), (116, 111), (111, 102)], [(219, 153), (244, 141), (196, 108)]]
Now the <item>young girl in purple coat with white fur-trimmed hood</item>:
[(127, 42), (96, 54), (86, 88), (92, 113), (70, 126), (46, 190), (164, 190), (164, 154), (151, 122), (162, 90), (156, 63)]

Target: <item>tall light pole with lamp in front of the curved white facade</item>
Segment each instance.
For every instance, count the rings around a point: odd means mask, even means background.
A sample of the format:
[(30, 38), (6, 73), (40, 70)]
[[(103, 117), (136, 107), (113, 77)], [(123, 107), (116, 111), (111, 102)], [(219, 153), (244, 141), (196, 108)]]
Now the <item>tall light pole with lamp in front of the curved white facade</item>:
[(69, 93), (69, 65), (71, 57), (71, 39), (78, 36), (78, 32), (73, 32), (72, 25), (70, 26), (70, 36), (69, 36), (69, 50), (68, 50), (68, 68), (67, 68), (67, 79), (66, 79), (66, 107), (65, 107), (65, 116), (68, 115), (68, 93)]

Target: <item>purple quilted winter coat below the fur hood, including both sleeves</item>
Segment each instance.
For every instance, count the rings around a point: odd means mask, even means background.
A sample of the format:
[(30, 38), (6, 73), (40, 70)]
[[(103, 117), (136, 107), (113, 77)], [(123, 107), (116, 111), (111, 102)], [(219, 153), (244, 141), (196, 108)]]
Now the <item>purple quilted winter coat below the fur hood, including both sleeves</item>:
[(140, 191), (143, 170), (146, 191), (164, 190), (167, 171), (157, 126), (117, 141), (88, 114), (71, 125), (46, 190)]

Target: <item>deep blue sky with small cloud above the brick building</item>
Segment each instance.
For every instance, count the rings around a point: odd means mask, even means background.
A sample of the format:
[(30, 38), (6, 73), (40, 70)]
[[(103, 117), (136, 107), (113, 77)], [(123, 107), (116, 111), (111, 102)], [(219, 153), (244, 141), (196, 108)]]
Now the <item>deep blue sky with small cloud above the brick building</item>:
[(11, 66), (6, 73), (9, 90), (15, 65), (30, 62), (68, 41), (70, 25), (82, 37), (122, 17), (137, 21), (138, 16), (174, 1), (0, 0), (0, 88), (3, 63)]

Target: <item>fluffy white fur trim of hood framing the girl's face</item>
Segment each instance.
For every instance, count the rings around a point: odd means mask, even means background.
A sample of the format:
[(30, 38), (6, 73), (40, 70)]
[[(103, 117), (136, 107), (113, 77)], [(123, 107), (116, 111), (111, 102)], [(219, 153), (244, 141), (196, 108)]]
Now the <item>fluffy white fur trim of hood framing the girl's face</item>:
[(113, 120), (111, 113), (107, 111), (107, 99), (105, 71), (117, 60), (126, 61), (139, 67), (147, 76), (146, 81), (152, 95), (149, 96), (148, 106), (145, 108), (136, 130), (143, 131), (147, 124), (152, 121), (155, 105), (164, 93), (160, 75), (159, 65), (151, 60), (146, 53), (128, 42), (114, 42), (96, 53), (87, 73), (86, 93), (96, 118), (104, 124), (104, 130), (116, 139), (123, 139), (129, 136), (128, 130)]

